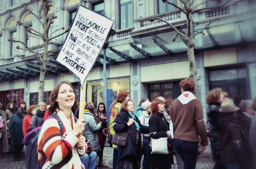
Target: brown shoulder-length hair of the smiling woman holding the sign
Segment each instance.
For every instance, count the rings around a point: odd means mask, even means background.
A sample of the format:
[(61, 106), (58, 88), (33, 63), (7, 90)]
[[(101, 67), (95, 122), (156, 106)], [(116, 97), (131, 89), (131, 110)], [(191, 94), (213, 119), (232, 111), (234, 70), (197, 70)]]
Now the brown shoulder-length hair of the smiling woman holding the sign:
[(52, 92), (50, 94), (50, 97), (49, 97), (49, 103), (50, 103), (49, 114), (53, 114), (54, 112), (57, 113), (57, 109), (60, 109), (58, 102), (56, 102), (55, 100), (58, 97), (60, 86), (62, 86), (62, 84), (64, 84), (64, 83), (68, 84), (73, 89), (73, 91), (75, 93), (75, 103), (74, 103), (73, 107), (71, 108), (71, 111), (73, 113), (75, 113), (75, 109), (78, 108), (78, 102), (76, 101), (76, 91), (75, 91), (75, 88), (72, 86), (72, 84), (70, 82), (62, 81), (62, 82), (59, 82), (59, 83), (56, 84), (56, 86), (53, 88), (53, 90), (52, 90)]

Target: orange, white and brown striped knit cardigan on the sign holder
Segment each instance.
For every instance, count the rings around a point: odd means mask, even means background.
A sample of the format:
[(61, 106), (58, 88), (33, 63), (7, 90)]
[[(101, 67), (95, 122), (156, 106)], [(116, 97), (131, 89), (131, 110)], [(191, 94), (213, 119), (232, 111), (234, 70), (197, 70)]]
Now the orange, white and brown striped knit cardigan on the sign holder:
[[(60, 136), (60, 127), (55, 118), (48, 118), (44, 121), (38, 137), (38, 161), (42, 163), (44, 156), (47, 157), (43, 169), (83, 169), (79, 156), (87, 152), (87, 145), (82, 150), (76, 148), (78, 138), (71, 133), (73, 129), (68, 119), (60, 110), (57, 114), (63, 123), (63, 135)], [(71, 113), (71, 119), (73, 119), (74, 127), (73, 113)]]

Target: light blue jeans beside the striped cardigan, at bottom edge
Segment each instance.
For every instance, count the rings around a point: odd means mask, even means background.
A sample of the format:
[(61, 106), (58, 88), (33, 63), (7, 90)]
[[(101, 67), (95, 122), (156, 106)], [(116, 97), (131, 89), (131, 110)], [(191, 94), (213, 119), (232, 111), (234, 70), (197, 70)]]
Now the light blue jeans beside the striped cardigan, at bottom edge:
[(80, 157), (82, 164), (84, 164), (85, 169), (95, 169), (97, 162), (97, 153), (92, 151), (90, 153), (85, 153), (84, 156)]

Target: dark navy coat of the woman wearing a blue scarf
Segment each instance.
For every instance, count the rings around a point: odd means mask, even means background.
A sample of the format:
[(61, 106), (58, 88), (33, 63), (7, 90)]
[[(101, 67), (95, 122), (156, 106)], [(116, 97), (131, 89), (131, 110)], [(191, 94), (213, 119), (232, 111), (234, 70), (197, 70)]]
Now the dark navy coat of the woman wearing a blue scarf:
[(127, 146), (118, 146), (118, 160), (122, 159), (124, 156), (127, 156), (127, 155), (134, 155), (134, 156), (137, 156), (137, 162), (138, 162), (138, 164), (140, 164), (141, 153), (142, 153), (141, 152), (142, 151), (141, 133), (149, 133), (149, 127), (143, 126), (142, 124), (140, 124), (140, 120), (137, 118), (136, 115), (134, 115), (134, 116), (136, 118), (137, 123), (140, 126), (139, 143), (138, 144), (136, 144), (137, 130), (135, 127), (135, 123), (130, 125), (129, 128), (127, 125), (129, 118), (132, 118), (128, 114), (128, 111), (126, 111), (126, 110), (120, 111), (120, 113), (116, 116), (116, 119), (113, 122), (113, 129), (115, 132), (123, 132), (123, 133), (126, 133), (129, 130)]

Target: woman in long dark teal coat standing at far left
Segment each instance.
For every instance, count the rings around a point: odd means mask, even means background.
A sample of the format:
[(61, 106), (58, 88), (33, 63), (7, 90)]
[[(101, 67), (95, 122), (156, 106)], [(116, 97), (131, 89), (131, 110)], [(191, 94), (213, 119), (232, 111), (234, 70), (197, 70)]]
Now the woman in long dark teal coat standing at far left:
[(14, 160), (20, 161), (20, 153), (23, 150), (24, 144), (22, 144), (23, 140), (23, 132), (22, 132), (22, 124), (23, 119), (26, 114), (22, 113), (22, 107), (15, 107), (15, 114), (11, 116), (9, 121), (9, 133), (12, 138), (12, 142), (14, 142)]

